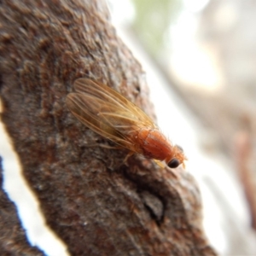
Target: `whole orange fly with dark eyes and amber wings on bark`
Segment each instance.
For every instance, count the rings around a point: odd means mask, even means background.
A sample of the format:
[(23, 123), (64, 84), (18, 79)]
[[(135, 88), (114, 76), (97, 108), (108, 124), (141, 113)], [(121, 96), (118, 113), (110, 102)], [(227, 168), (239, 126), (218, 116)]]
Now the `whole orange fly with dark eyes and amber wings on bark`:
[(182, 148), (172, 145), (140, 108), (117, 91), (90, 79), (77, 79), (67, 96), (67, 107), (92, 131), (128, 148), (131, 154), (165, 161), (176, 168), (184, 166)]

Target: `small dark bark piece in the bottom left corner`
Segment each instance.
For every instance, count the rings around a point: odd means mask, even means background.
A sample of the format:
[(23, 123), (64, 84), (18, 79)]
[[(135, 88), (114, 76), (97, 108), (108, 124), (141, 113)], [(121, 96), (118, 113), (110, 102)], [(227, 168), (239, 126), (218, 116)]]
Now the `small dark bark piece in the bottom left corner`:
[(21, 228), (16, 207), (3, 191), (3, 169), (0, 157), (0, 253), (1, 256), (27, 255), (43, 256), (37, 247), (32, 247), (26, 240), (26, 233)]

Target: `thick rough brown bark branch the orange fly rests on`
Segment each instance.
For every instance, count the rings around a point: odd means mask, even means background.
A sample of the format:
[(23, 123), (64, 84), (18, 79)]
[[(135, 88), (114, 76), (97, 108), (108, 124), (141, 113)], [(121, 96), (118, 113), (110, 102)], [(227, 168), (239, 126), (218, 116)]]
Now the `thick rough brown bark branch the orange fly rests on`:
[(49, 227), (72, 255), (216, 255), (195, 180), (161, 170), (80, 124), (65, 105), (90, 77), (150, 109), (144, 73), (102, 1), (0, 3), (2, 120)]

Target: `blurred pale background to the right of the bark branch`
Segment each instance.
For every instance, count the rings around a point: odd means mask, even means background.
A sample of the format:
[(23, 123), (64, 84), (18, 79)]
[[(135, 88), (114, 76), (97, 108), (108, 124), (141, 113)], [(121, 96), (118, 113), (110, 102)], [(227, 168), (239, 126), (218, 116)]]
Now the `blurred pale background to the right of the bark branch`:
[(143, 65), (160, 129), (188, 155), (212, 246), (221, 255), (256, 255), (256, 2), (108, 6)]

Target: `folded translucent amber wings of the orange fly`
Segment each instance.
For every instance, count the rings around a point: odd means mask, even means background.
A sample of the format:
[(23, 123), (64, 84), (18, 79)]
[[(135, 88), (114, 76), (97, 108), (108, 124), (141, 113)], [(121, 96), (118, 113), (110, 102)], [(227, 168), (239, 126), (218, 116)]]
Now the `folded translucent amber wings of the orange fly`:
[(137, 151), (134, 132), (156, 128), (140, 108), (105, 84), (78, 79), (74, 88), (76, 93), (66, 100), (70, 111), (91, 130), (131, 151)]

